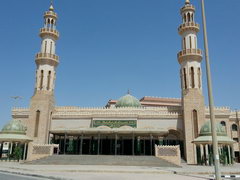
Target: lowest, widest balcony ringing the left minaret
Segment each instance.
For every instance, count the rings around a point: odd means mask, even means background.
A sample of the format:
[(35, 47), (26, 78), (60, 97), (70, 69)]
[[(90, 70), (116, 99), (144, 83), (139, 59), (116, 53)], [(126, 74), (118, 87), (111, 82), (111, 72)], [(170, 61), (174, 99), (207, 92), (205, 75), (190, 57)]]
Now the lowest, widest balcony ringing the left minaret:
[(50, 53), (37, 53), (35, 57), (36, 63), (39, 64), (49, 64), (57, 66), (59, 63), (59, 57), (55, 54)]

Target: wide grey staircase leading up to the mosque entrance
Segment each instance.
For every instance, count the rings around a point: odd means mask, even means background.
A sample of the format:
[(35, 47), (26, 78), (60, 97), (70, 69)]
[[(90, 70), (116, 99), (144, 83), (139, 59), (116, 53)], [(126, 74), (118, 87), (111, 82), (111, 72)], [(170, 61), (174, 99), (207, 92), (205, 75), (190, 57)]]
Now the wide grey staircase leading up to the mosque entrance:
[(26, 164), (178, 167), (154, 156), (53, 155)]

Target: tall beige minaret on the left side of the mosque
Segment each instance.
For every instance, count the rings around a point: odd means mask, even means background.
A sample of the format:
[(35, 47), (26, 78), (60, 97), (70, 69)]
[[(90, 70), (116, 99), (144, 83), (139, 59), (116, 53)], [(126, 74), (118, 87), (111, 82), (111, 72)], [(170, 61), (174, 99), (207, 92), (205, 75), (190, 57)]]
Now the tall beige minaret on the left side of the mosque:
[(54, 110), (54, 87), (59, 57), (55, 54), (59, 33), (56, 30), (57, 14), (53, 4), (44, 13), (44, 27), (40, 29), (41, 50), (36, 54), (35, 91), (30, 103), (28, 136), (35, 143), (48, 143), (51, 115)]

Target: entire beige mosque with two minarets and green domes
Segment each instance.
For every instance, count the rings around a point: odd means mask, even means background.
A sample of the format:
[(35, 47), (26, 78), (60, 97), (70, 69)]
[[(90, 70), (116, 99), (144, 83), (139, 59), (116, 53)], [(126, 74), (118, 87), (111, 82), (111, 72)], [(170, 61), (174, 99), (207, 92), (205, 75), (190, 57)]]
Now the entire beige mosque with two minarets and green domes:
[[(56, 41), (58, 19), (53, 5), (44, 13), (41, 48), (36, 54), (36, 82), (28, 108), (13, 108), (13, 120), (4, 126), (0, 142), (58, 144), (61, 154), (153, 156), (155, 145), (179, 145), (188, 164), (210, 164), (212, 159), (209, 108), (202, 93), (203, 52), (198, 48), (199, 24), (189, 0), (180, 9), (177, 54), (181, 98), (145, 96), (128, 92), (105, 107), (55, 106), (54, 89), (59, 57)], [(239, 159), (238, 112), (215, 107), (220, 156), (228, 163)], [(26, 128), (23, 128), (25, 126)], [(10, 137), (13, 133), (14, 136)], [(12, 144), (12, 143), (10, 143)], [(12, 146), (11, 146), (12, 147)]]

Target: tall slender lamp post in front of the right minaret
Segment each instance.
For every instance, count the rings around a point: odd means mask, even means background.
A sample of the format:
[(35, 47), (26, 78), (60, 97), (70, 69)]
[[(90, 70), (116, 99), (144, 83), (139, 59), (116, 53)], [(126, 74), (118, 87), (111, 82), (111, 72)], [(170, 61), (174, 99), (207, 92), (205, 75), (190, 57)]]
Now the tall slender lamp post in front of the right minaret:
[(216, 177), (216, 180), (221, 180), (219, 154), (218, 154), (218, 141), (217, 141), (216, 123), (215, 123), (215, 115), (214, 115), (214, 102), (213, 102), (213, 95), (212, 95), (212, 80), (211, 80), (211, 70), (210, 70), (210, 63), (209, 63), (208, 38), (207, 38), (207, 27), (206, 27), (207, 25), (206, 25), (204, 0), (202, 0), (202, 21), (203, 21), (204, 48), (205, 48), (206, 73), (207, 73), (207, 85), (208, 85), (208, 100), (209, 100), (210, 120), (211, 120), (211, 129), (212, 129), (215, 177)]

